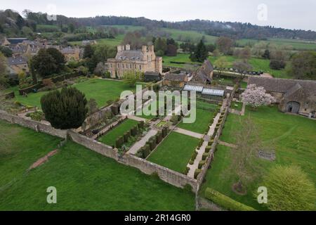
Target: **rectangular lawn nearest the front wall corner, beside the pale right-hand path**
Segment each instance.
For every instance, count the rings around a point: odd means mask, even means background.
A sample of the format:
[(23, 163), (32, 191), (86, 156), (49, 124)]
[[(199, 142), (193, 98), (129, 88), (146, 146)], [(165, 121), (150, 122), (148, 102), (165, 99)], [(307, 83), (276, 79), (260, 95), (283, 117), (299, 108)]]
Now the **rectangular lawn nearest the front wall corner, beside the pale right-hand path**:
[(147, 160), (183, 173), (198, 143), (199, 139), (171, 132)]

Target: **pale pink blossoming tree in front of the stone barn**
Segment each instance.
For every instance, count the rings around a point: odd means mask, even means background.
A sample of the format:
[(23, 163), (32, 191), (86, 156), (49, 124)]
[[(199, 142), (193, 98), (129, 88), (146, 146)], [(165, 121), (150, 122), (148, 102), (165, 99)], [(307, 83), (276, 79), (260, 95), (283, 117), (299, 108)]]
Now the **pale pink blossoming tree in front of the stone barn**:
[(242, 93), (242, 102), (250, 105), (251, 108), (257, 108), (261, 105), (270, 105), (275, 103), (275, 98), (270, 94), (265, 93), (263, 86), (249, 84), (246, 90)]

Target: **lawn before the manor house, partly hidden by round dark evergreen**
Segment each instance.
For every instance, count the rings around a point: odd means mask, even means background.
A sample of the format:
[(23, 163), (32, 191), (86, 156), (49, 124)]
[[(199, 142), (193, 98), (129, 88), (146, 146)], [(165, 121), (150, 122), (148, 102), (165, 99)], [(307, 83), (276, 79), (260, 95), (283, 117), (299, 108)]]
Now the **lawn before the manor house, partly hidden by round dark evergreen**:
[[(99, 107), (107, 105), (107, 101), (115, 101), (121, 95), (121, 91), (131, 90), (129, 84), (126, 84), (125, 82), (105, 79), (88, 79), (85, 82), (80, 82), (73, 86), (84, 92), (87, 100), (90, 98), (96, 99)], [(18, 87), (11, 90), (15, 91), (14, 101), (19, 101), (26, 105), (37, 106), (39, 108), (41, 108), (41, 96), (47, 93), (47, 91), (40, 91), (27, 94), (27, 97), (24, 97), (18, 94)]]

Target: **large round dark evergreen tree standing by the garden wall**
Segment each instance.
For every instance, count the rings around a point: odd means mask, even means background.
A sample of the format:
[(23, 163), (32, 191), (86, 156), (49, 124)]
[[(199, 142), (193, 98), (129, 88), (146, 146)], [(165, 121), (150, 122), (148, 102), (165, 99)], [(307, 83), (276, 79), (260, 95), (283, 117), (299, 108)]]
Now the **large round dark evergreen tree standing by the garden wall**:
[(78, 128), (86, 119), (86, 97), (74, 87), (50, 91), (41, 97), (46, 120), (56, 129)]

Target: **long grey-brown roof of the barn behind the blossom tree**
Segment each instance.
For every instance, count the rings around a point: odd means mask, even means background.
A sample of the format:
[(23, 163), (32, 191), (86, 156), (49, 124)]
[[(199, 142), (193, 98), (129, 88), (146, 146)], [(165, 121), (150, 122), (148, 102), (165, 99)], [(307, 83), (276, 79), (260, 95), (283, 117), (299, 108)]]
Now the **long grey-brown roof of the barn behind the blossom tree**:
[[(265, 91), (280, 93), (287, 93), (288, 91), (294, 93), (301, 86), (307, 93), (316, 95), (315, 80), (249, 77), (248, 84), (256, 84), (256, 86), (263, 86)], [(296, 84), (299, 84), (299, 86)]]

